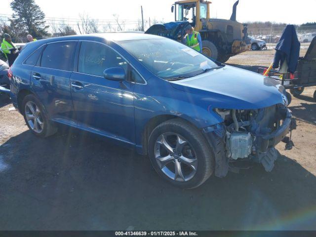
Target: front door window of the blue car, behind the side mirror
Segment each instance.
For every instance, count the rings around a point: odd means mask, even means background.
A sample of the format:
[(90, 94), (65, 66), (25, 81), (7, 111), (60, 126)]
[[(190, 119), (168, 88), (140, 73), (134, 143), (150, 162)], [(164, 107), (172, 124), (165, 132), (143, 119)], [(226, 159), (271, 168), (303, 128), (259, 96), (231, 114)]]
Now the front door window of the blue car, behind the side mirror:
[(127, 62), (110, 47), (94, 42), (81, 42), (78, 72), (103, 76), (103, 71), (122, 67), (127, 73)]

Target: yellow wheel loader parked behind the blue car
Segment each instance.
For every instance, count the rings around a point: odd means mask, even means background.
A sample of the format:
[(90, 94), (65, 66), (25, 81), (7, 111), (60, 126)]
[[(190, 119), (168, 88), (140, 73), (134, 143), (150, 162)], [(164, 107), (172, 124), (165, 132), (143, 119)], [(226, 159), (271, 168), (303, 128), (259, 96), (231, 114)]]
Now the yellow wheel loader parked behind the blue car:
[(233, 6), (230, 20), (210, 18), (210, 4), (205, 0), (176, 1), (171, 6), (175, 22), (155, 24), (145, 34), (184, 42), (184, 29), (191, 24), (201, 35), (203, 54), (222, 63), (231, 56), (249, 50), (251, 44), (247, 39), (247, 25), (236, 21), (238, 1)]

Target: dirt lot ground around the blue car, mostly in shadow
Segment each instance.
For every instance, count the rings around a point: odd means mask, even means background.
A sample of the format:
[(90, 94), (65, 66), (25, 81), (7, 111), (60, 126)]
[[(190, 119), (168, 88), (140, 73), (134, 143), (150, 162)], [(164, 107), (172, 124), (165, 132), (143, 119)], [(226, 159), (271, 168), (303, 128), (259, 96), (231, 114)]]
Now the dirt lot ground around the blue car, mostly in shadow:
[[(248, 51), (228, 63), (256, 70), (273, 55)], [(35, 138), (0, 95), (0, 230), (316, 230), (315, 89), (293, 97), (295, 147), (277, 146), (272, 172), (258, 165), (194, 190), (170, 186), (148, 158), (91, 134)]]

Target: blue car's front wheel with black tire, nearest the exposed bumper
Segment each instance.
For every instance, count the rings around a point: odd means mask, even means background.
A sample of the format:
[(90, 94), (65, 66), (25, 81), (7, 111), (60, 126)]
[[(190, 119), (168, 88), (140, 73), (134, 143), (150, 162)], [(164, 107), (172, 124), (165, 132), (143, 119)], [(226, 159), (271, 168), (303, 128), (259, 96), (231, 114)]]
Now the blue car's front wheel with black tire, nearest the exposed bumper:
[(196, 188), (213, 172), (214, 156), (206, 139), (182, 119), (165, 121), (152, 131), (148, 154), (157, 173), (179, 188)]

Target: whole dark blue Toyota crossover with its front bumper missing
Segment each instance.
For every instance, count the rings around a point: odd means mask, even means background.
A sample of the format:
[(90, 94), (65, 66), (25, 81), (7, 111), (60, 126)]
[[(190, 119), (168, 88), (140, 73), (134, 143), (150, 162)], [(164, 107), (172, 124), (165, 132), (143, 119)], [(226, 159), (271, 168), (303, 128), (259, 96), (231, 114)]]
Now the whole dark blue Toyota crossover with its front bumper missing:
[(240, 160), (270, 171), (294, 126), (274, 79), (153, 35), (38, 40), (9, 74), (13, 104), (35, 135), (59, 124), (99, 134), (148, 155), (182, 188), (224, 177)]

